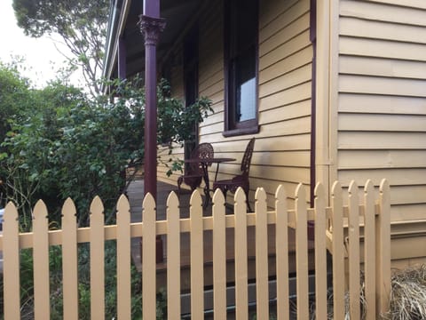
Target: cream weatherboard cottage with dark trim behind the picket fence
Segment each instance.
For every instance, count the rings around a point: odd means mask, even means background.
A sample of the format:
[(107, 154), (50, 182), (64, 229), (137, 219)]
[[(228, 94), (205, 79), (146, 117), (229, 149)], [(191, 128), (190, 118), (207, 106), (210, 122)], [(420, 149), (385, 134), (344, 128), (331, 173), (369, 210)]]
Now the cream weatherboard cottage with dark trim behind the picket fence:
[[(142, 13), (138, 1), (114, 1), (106, 77), (145, 68)], [(271, 207), (280, 184), (293, 195), (303, 182), (312, 203), (318, 181), (330, 196), (334, 180), (347, 188), (387, 178), (392, 259), (426, 256), (413, 245), (426, 227), (426, 3), (163, 0), (161, 17), (158, 76), (186, 103), (213, 101), (198, 142), (237, 158), (220, 165), (218, 179), (238, 172), (252, 137), (250, 190), (263, 187)], [(158, 180), (176, 185), (178, 174), (157, 170)]]

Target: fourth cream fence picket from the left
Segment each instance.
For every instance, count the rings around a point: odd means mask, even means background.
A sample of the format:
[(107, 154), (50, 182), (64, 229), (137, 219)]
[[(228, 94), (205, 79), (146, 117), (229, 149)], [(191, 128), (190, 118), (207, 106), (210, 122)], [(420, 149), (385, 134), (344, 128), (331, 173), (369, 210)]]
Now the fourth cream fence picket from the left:
[(105, 318), (104, 205), (99, 196), (91, 202), (91, 318)]

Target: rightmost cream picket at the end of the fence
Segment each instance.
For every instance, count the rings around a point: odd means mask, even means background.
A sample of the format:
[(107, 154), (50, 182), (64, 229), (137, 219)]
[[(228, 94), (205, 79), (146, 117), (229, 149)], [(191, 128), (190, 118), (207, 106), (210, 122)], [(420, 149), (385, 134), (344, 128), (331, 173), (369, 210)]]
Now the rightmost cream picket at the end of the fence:
[(376, 218), (377, 311), (384, 314), (389, 310), (390, 299), (390, 185), (383, 179), (380, 183), (379, 214)]

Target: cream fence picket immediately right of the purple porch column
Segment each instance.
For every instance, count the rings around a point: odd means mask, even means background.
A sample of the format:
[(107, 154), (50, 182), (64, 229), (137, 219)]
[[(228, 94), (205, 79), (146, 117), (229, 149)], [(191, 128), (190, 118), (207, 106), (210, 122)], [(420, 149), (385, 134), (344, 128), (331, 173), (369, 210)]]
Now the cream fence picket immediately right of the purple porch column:
[(179, 200), (174, 192), (167, 198), (167, 317), (180, 319), (180, 223)]

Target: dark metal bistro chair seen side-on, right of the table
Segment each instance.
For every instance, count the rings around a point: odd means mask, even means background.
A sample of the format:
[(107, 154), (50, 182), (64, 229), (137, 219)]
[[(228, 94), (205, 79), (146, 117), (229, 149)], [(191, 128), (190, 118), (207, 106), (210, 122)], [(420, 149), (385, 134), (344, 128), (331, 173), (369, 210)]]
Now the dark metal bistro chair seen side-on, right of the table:
[(253, 155), (253, 148), (255, 147), (255, 138), (248, 141), (244, 156), (241, 161), (241, 174), (236, 175), (231, 180), (218, 180), (213, 183), (213, 190), (220, 188), (224, 193), (226, 199), (226, 192), (231, 191), (235, 193), (238, 187), (241, 187), (246, 194), (248, 211), (251, 212), (250, 204), (248, 202), (248, 190), (250, 189), (250, 182), (248, 180), (248, 172), (250, 170), (251, 156)]

